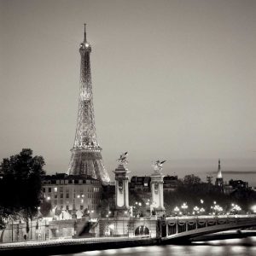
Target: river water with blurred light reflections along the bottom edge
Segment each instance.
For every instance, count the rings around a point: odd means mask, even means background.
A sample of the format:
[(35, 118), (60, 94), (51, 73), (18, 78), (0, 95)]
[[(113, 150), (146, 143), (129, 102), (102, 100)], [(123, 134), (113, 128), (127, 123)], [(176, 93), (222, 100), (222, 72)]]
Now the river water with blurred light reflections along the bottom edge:
[[(192, 245), (167, 245), (150, 247), (131, 247), (92, 251), (65, 256), (256, 256), (256, 237), (194, 242)], [(64, 255), (63, 255), (64, 256)]]

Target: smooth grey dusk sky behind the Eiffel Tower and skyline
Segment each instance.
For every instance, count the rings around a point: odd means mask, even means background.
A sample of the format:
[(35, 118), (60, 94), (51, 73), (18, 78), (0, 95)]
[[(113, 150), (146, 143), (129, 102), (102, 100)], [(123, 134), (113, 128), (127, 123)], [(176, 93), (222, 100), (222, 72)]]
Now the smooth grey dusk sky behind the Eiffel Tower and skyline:
[(32, 148), (67, 172), (86, 22), (111, 177), (129, 151), (131, 175), (160, 159), (205, 180), (220, 158), (256, 185), (256, 1), (0, 1), (1, 159)]

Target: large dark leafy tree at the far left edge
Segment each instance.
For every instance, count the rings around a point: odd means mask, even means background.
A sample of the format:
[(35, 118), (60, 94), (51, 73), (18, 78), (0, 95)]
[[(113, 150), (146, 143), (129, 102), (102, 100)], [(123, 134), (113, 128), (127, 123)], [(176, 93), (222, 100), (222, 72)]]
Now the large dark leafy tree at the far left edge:
[(0, 180), (0, 214), (32, 219), (41, 201), (42, 177), (45, 174), (44, 158), (32, 156), (32, 149), (23, 148), (20, 154), (3, 159)]

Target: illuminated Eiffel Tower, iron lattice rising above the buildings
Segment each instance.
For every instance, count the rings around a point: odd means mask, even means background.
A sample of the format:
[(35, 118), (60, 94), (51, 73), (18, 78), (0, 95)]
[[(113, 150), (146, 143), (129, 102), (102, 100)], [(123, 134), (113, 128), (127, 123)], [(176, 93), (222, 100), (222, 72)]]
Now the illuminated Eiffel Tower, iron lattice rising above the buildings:
[(102, 148), (96, 137), (90, 75), (91, 46), (86, 39), (85, 24), (84, 42), (80, 44), (79, 52), (81, 55), (79, 113), (67, 174), (93, 177), (101, 180), (102, 183), (108, 183), (110, 178), (103, 165)]

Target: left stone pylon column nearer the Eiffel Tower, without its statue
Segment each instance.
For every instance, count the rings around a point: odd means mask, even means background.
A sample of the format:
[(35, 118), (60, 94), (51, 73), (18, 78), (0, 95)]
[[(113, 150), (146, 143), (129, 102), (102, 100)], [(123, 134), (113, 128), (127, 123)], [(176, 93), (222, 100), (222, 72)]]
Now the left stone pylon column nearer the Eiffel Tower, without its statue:
[(115, 174), (115, 214), (129, 216), (129, 171), (123, 164), (113, 171)]

